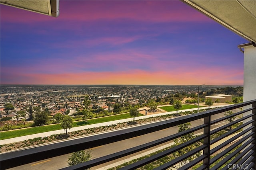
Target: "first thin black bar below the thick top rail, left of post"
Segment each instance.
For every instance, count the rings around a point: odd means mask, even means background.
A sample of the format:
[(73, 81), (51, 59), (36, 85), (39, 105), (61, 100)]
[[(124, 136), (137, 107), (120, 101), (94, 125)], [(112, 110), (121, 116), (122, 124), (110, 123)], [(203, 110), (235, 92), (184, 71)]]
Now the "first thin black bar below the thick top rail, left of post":
[(93, 166), (97, 166), (97, 165), (109, 162), (111, 160), (115, 160), (116, 158), (121, 158), (121, 157), (127, 156), (129, 154), (133, 154), (133, 153), (139, 152), (141, 150), (145, 150), (145, 149), (154, 147), (156, 145), (160, 145), (162, 143), (171, 141), (171, 140), (176, 139), (178, 137), (182, 137), (183, 135), (187, 135), (189, 133), (192, 133), (194, 131), (202, 129), (202, 128), (206, 127), (206, 126), (207, 125), (199, 125), (197, 127), (193, 127), (193, 128), (188, 129), (186, 131), (182, 131), (180, 133), (176, 133), (174, 135), (170, 135), (168, 137), (164, 137), (162, 139), (158, 139), (156, 141), (152, 141), (152, 142), (149, 142), (149, 143), (137, 146), (137, 147), (133, 147), (133, 148), (130, 148), (130, 149), (122, 150), (122, 151), (116, 152), (114, 154), (110, 154), (110, 155), (107, 155), (107, 156), (102, 156), (100, 158), (89, 160), (87, 162), (83, 162), (83, 163), (76, 164), (76, 165), (73, 165), (73, 166), (68, 166), (68, 167), (62, 168), (62, 170), (74, 170), (74, 169), (79, 170), (79, 169), (91, 168)]

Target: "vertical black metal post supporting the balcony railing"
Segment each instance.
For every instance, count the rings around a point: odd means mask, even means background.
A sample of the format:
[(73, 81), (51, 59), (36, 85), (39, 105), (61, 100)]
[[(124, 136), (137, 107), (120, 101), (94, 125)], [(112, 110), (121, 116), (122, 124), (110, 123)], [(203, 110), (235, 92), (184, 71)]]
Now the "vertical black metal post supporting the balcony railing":
[(208, 125), (204, 128), (204, 135), (207, 135), (204, 138), (204, 145), (208, 147), (203, 150), (203, 154), (207, 155), (207, 158), (203, 160), (203, 164), (206, 165), (207, 169), (210, 170), (210, 131), (211, 131), (211, 115), (204, 117), (204, 124)]

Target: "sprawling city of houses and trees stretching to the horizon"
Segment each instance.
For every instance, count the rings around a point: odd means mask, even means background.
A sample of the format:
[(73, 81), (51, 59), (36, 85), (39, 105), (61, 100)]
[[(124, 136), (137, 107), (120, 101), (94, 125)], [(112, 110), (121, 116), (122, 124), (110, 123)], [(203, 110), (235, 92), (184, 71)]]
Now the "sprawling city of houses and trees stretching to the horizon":
[[(204, 86), (201, 87), (202, 94), (214, 92), (217, 88), (226, 86)], [(238, 87), (238, 86), (234, 86)], [(232, 88), (228, 88), (229, 90)], [(111, 111), (115, 103), (128, 105), (146, 104), (149, 100), (161, 100), (166, 98), (166, 103), (170, 102), (170, 96), (186, 94), (197, 94), (198, 86), (150, 86), (150, 85), (1, 85), (0, 86), (0, 115), (12, 116), (20, 110), (25, 110), (28, 118), (28, 108), (40, 107), (40, 110), (48, 108), (51, 115), (56, 113), (64, 114), (67, 110), (70, 114), (76, 112), (76, 108), (83, 106), (84, 96), (89, 95), (90, 107)], [(241, 93), (241, 92), (239, 92)], [(200, 94), (201, 95), (201, 94)], [(209, 95), (209, 94), (208, 94)], [(210, 94), (212, 95), (212, 94)], [(232, 102), (230, 95), (212, 95), (213, 102), (219, 99), (220, 102)], [(5, 109), (5, 104), (11, 103), (14, 109)], [(16, 119), (15, 117), (13, 119)]]

